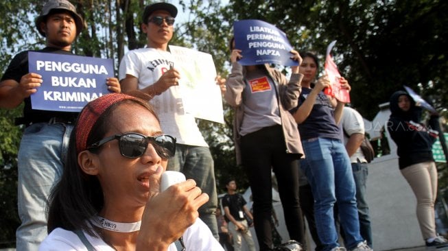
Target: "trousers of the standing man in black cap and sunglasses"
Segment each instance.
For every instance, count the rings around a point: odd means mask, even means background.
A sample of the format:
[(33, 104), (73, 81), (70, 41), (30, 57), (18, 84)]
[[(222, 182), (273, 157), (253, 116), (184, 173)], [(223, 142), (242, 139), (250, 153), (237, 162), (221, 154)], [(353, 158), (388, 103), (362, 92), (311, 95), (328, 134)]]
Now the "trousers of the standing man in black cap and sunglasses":
[(187, 179), (195, 180), (196, 185), (209, 195), (209, 202), (199, 208), (199, 217), (209, 226), (213, 236), (220, 239), (215, 216), (215, 169), (209, 147), (176, 144), (176, 155), (168, 161), (167, 170), (182, 172)]

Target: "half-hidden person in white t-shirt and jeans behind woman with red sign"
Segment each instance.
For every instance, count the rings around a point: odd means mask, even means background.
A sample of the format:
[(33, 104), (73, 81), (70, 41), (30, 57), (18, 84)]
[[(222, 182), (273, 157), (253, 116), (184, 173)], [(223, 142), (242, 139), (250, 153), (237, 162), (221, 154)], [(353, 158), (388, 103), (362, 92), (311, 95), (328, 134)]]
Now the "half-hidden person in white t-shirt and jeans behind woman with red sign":
[(344, 132), (344, 143), (350, 156), (353, 178), (356, 184), (356, 201), (359, 216), (359, 231), (367, 245), (372, 248), (372, 230), (366, 201), (366, 183), (368, 176), (367, 160), (359, 147), (364, 140), (364, 120), (355, 109), (344, 107), (341, 126)]

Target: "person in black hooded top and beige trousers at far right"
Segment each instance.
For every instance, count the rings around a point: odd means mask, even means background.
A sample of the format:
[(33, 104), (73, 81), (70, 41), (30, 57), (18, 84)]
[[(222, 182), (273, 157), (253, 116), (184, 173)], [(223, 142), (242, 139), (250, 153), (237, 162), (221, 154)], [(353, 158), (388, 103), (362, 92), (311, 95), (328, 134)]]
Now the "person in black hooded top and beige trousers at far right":
[(417, 199), (417, 219), (427, 247), (448, 245), (437, 235), (434, 203), (437, 197), (437, 167), (432, 145), (440, 129), (438, 113), (433, 111), (428, 126), (421, 124), (421, 107), (405, 91), (390, 97), (388, 131), (397, 144), (399, 169)]

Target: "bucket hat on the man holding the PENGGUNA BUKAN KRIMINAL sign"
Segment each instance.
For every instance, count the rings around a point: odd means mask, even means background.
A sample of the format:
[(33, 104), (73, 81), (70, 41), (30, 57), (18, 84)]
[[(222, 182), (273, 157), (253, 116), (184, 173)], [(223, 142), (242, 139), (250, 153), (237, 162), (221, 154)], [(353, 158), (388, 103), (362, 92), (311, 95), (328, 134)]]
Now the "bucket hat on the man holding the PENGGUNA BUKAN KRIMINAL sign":
[(45, 36), (45, 33), (40, 30), (40, 23), (50, 14), (51, 10), (67, 10), (69, 11), (73, 19), (75, 19), (76, 24), (76, 36), (80, 34), (82, 28), (84, 28), (84, 21), (78, 12), (76, 12), (75, 6), (67, 0), (49, 0), (45, 5), (43, 5), (42, 14), (36, 19), (36, 27), (40, 35)]

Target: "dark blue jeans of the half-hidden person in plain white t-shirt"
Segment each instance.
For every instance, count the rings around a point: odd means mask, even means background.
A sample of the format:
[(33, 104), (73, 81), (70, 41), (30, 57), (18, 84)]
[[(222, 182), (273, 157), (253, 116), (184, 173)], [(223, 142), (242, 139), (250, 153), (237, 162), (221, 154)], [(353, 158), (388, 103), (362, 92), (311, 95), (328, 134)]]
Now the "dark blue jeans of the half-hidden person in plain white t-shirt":
[(359, 230), (362, 238), (367, 241), (370, 248), (372, 246), (372, 229), (370, 228), (370, 216), (368, 214), (368, 205), (366, 201), (366, 183), (368, 176), (367, 163), (351, 163), (353, 178), (356, 184), (356, 202), (359, 217)]

